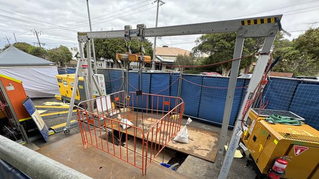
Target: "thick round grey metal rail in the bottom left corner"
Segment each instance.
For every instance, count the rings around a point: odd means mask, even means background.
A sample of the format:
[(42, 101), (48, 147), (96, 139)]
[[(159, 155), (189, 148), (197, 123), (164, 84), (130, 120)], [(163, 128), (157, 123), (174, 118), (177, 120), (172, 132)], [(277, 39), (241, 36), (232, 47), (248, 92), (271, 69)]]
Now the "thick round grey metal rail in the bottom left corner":
[(31, 179), (92, 179), (2, 135), (0, 158)]

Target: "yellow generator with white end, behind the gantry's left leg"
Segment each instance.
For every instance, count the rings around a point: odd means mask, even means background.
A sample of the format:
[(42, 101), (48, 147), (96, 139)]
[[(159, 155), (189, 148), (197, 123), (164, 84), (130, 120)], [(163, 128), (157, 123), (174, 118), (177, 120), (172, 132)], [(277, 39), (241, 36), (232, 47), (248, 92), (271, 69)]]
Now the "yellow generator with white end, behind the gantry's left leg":
[[(100, 89), (102, 90), (103, 95), (106, 94), (105, 81), (103, 74), (94, 74), (94, 78), (97, 80)], [(72, 90), (75, 81), (75, 74), (60, 74), (56, 75), (57, 84), (59, 86), (59, 91), (61, 94), (61, 99), (64, 102), (69, 102), (71, 100)], [(84, 78), (79, 78), (77, 93), (76, 93), (76, 103), (86, 100), (86, 89), (84, 85)], [(97, 97), (98, 90), (95, 85), (93, 85), (93, 97)]]

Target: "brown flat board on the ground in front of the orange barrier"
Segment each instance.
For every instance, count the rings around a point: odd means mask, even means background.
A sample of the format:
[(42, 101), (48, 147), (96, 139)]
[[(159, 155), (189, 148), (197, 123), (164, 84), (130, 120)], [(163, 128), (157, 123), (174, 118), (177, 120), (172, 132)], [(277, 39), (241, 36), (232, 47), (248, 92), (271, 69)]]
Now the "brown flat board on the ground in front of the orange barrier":
[(152, 163), (147, 175), (140, 169), (93, 146), (83, 148), (80, 134), (47, 145), (38, 153), (50, 157), (94, 179), (186, 179), (177, 172)]

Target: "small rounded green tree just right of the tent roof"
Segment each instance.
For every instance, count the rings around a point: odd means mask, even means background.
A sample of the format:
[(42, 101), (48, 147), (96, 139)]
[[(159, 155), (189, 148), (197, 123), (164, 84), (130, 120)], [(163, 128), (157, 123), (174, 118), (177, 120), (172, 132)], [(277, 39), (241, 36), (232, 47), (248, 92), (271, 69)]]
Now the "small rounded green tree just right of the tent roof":
[(55, 62), (61, 67), (72, 60), (72, 53), (68, 47), (60, 45), (59, 47), (48, 50), (48, 60)]

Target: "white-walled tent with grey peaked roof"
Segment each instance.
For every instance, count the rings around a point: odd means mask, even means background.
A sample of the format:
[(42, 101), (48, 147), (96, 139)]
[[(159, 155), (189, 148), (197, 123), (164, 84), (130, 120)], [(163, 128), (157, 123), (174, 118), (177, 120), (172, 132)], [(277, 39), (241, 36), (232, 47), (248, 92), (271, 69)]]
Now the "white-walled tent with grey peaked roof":
[(55, 63), (27, 54), (14, 46), (0, 53), (0, 74), (21, 80), (29, 97), (59, 94)]

